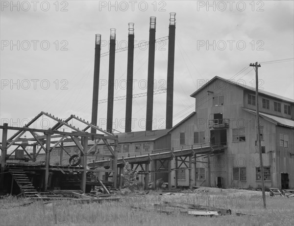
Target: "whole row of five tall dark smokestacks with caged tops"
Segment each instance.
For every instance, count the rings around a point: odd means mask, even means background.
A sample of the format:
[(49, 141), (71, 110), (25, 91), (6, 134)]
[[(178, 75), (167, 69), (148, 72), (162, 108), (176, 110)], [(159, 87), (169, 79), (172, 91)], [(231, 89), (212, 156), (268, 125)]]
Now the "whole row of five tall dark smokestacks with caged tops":
[[(132, 119), (132, 96), (133, 96), (133, 68), (134, 68), (134, 23), (128, 23), (128, 53), (127, 53), (127, 85), (126, 85), (126, 108), (125, 108), (125, 132), (131, 132)], [(112, 133), (113, 102), (114, 102), (114, 75), (115, 75), (115, 45), (116, 29), (110, 29), (109, 47), (109, 74), (108, 74), (108, 101), (107, 101), (107, 124), (106, 131)], [(155, 65), (155, 32), (156, 17), (150, 17), (149, 26), (149, 51), (148, 51), (148, 78), (147, 78), (147, 111), (146, 130), (152, 130), (153, 119), (153, 91), (154, 91), (154, 65)], [(166, 128), (172, 128), (173, 111), (173, 77), (174, 77), (174, 43), (175, 43), (175, 13), (170, 13), (169, 26), (169, 49), (168, 49), (168, 72), (167, 72), (167, 105), (166, 105)], [(92, 124), (97, 125), (98, 117), (98, 88), (100, 68), (101, 35), (96, 35), (94, 85), (92, 101)], [(92, 129), (91, 133), (96, 133)]]

